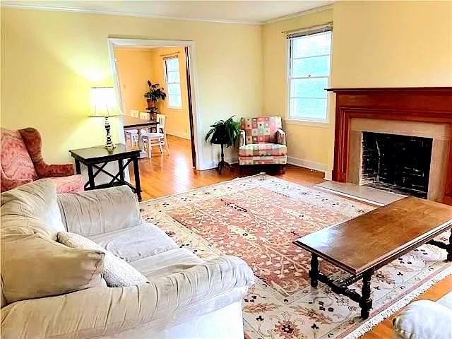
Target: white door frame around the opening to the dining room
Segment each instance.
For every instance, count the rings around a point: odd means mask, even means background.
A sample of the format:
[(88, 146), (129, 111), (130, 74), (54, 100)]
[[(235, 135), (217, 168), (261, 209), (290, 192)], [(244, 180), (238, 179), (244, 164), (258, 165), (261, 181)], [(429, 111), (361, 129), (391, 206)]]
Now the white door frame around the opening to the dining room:
[[(190, 78), (187, 79), (190, 81), (189, 83), (189, 101), (191, 101), (191, 112), (190, 115), (190, 124), (193, 124), (193, 131), (191, 131), (191, 140), (192, 143), (192, 154), (195, 154), (196, 163), (194, 167), (196, 169), (203, 169), (203, 133), (201, 130), (201, 114), (200, 114), (200, 105), (198, 101), (198, 85), (197, 85), (197, 76), (196, 76), (196, 53), (195, 53), (195, 42), (191, 40), (153, 40), (153, 39), (128, 39), (128, 38), (114, 38), (109, 37), (108, 39), (108, 50), (109, 50), (109, 60), (110, 67), (112, 69), (113, 81), (114, 81), (114, 91), (117, 95), (117, 100), (119, 103), (119, 107), (122, 106), (122, 96), (121, 96), (121, 86), (119, 85), (119, 74), (117, 72), (116, 67), (116, 59), (114, 57), (114, 47), (187, 47), (189, 52), (189, 68), (187, 71), (190, 72)], [(190, 107), (189, 107), (190, 108)], [(189, 109), (190, 111), (190, 109)], [(123, 112), (124, 113), (124, 112)], [(125, 142), (124, 138), (124, 126), (119, 124), (120, 129), (120, 140), (121, 142)], [(194, 146), (194, 149), (193, 149)]]

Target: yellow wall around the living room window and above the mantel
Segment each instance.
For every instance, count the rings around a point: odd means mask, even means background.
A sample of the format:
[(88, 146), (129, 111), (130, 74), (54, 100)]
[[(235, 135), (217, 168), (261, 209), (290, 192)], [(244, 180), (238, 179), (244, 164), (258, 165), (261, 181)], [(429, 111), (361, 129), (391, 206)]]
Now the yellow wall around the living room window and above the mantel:
[[(338, 1), (333, 9), (263, 28), (263, 107), (285, 116), (285, 35), (334, 22), (331, 87), (452, 85), (451, 1)], [(333, 168), (334, 97), (330, 124), (286, 124), (289, 155)], [(323, 128), (319, 127), (322, 126)]]

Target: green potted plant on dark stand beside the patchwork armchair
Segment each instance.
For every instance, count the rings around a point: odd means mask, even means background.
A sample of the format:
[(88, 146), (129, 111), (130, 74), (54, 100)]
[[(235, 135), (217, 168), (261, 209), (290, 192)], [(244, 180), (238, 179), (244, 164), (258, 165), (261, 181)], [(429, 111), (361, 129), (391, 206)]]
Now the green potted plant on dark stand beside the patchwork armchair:
[(240, 123), (239, 121), (234, 121), (230, 117), (227, 120), (220, 120), (215, 122), (215, 124), (210, 125), (210, 130), (206, 134), (206, 141), (210, 138), (210, 143), (215, 145), (221, 145), (221, 160), (218, 163), (217, 172), (221, 174), (222, 168), (227, 166), (231, 168), (231, 165), (225, 162), (224, 146), (230, 147), (234, 145), (235, 141), (240, 134)]

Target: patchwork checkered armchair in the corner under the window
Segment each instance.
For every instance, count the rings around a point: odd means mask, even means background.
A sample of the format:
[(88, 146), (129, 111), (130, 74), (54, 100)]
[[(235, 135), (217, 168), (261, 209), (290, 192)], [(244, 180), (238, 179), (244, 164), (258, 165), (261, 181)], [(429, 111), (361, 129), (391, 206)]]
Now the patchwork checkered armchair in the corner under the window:
[(239, 170), (244, 165), (287, 163), (287, 146), (281, 117), (242, 118), (239, 135)]

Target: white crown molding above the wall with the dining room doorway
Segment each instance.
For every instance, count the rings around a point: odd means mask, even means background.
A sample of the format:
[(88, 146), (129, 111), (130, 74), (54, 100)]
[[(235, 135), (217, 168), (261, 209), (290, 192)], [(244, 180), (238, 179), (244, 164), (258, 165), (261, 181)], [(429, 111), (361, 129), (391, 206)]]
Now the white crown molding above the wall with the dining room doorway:
[(232, 23), (236, 25), (264, 25), (261, 21), (252, 20), (222, 20), (213, 18), (179, 18), (175, 16), (153, 16), (150, 14), (143, 13), (126, 13), (119, 11), (102, 11), (102, 10), (92, 10), (84, 8), (71, 8), (71, 7), (59, 7), (59, 6), (40, 6), (40, 5), (18, 5), (11, 2), (2, 1), (1, 8), (13, 8), (13, 9), (28, 9), (35, 11), (57, 11), (57, 12), (71, 12), (71, 13), (88, 13), (88, 14), (101, 14), (106, 16), (131, 16), (136, 18), (150, 18), (150, 19), (160, 19), (160, 20), (183, 20), (183, 21), (198, 21), (205, 23)]

